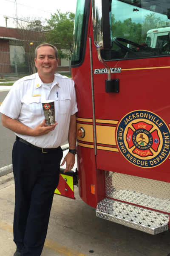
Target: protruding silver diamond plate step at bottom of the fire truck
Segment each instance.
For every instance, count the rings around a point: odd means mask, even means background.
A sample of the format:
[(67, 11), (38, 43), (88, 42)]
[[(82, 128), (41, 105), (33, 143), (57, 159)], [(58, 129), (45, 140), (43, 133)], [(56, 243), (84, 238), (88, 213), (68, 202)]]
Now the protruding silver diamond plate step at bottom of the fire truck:
[(169, 229), (169, 214), (104, 198), (97, 204), (96, 216), (152, 235)]

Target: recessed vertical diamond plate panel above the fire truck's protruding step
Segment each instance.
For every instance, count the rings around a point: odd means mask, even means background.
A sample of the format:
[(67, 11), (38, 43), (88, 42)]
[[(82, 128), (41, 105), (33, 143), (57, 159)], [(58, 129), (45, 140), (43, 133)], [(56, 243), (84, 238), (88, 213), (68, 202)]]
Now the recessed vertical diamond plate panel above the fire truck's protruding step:
[(107, 197), (170, 212), (170, 183), (105, 172), (105, 184)]

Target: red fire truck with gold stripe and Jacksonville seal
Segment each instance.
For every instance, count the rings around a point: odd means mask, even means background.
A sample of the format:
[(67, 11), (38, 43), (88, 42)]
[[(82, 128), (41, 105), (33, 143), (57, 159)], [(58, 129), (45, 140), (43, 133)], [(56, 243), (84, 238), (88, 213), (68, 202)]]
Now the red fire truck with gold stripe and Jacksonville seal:
[(71, 60), (79, 196), (153, 235), (170, 225), (169, 20), (169, 0), (77, 0)]

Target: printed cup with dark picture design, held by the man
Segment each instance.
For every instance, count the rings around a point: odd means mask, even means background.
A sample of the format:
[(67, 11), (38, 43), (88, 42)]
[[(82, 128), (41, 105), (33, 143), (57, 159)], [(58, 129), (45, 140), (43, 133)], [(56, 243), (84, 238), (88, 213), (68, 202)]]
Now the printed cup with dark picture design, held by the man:
[(42, 103), (46, 125), (54, 125), (55, 123), (55, 108), (54, 100), (45, 100)]

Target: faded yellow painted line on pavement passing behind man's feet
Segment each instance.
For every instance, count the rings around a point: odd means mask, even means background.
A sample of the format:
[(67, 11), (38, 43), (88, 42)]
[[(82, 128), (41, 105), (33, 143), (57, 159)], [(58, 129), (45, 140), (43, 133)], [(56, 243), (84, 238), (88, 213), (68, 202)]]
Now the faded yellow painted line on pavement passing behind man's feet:
[[(13, 226), (5, 221), (0, 221), (0, 229), (13, 233)], [(80, 253), (77, 250), (73, 250), (50, 239), (45, 239), (44, 247), (63, 256), (87, 256), (84, 253)]]

